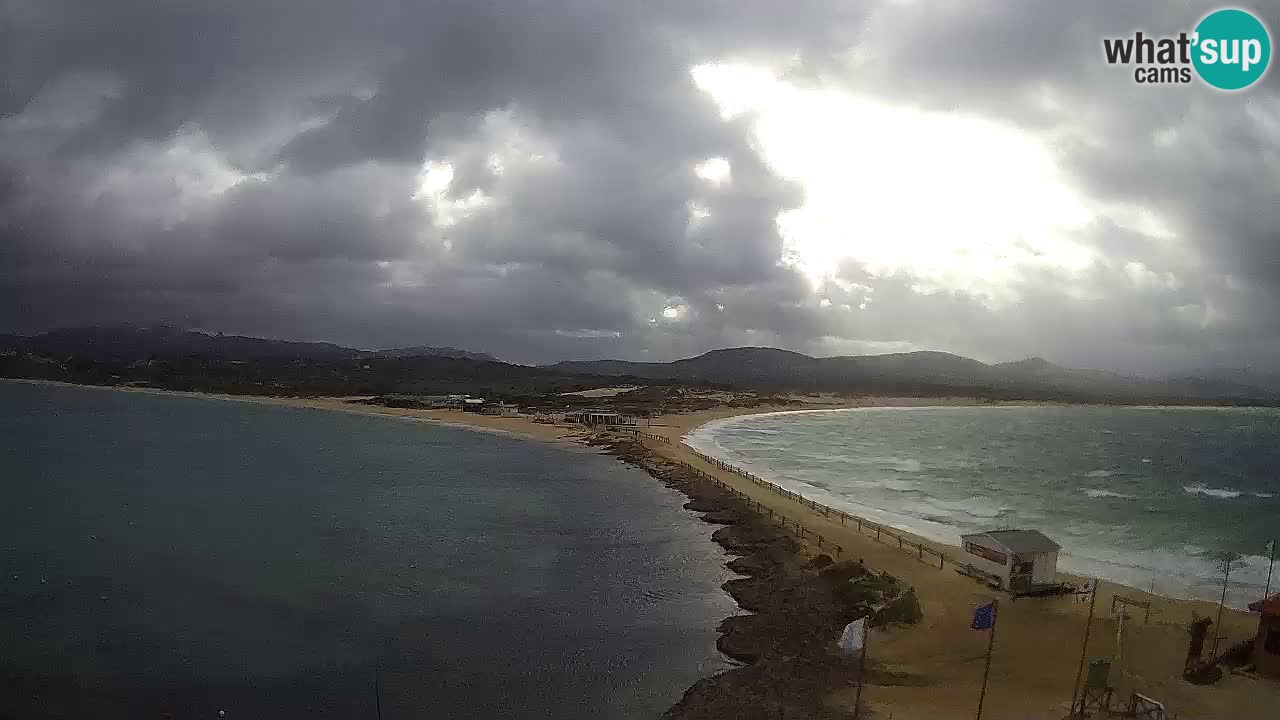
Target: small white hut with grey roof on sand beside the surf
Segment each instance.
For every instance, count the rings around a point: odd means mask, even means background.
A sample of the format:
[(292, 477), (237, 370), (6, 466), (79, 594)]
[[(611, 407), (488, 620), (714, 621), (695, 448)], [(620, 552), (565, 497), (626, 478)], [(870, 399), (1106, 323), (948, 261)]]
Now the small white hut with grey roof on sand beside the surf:
[(965, 560), (997, 580), (1001, 589), (1029, 593), (1057, 584), (1062, 546), (1039, 530), (988, 530), (960, 536)]

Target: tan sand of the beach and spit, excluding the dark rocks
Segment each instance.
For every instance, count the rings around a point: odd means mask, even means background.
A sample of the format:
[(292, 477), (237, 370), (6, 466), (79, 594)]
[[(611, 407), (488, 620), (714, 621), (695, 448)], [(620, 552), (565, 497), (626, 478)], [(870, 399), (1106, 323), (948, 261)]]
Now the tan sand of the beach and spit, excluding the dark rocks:
[[(165, 392), (128, 388), (131, 392)], [(351, 398), (279, 398), (212, 396), (183, 393), (197, 397), (234, 400), (241, 402), (276, 404), (292, 407), (310, 407), (389, 415), (474, 428), (486, 432), (508, 433), (516, 437), (548, 442), (584, 441), (590, 433), (572, 425), (535, 423), (529, 416), (489, 416), (452, 410), (411, 410), (355, 404)], [(884, 405), (940, 405), (979, 404), (966, 398), (938, 401), (915, 398), (863, 398), (827, 400), (813, 404), (819, 407), (852, 407)], [(864, 701), (877, 717), (895, 720), (933, 720), (973, 716), (980, 685), (987, 633), (969, 629), (972, 610), (997, 597), (974, 580), (961, 577), (952, 568), (940, 570), (937, 565), (920, 562), (916, 553), (904, 552), (896, 544), (883, 544), (870, 534), (859, 533), (852, 525), (842, 525), (836, 518), (814, 512), (808, 506), (780, 496), (733, 473), (723, 471), (695, 455), (680, 441), (694, 428), (710, 420), (767, 413), (795, 410), (795, 407), (717, 409), (654, 418), (643, 432), (668, 438), (671, 442), (648, 442), (645, 446), (655, 456), (678, 461), (716, 475), (721, 482), (772, 509), (806, 529), (822, 534), (827, 542), (838, 543), (844, 559), (863, 559), (874, 569), (887, 571), (915, 588), (924, 611), (924, 621), (913, 628), (876, 632), (869, 641), (869, 659), (878, 667), (900, 674), (901, 684), (868, 687)], [(904, 533), (905, 534), (905, 533)], [(959, 556), (956, 547), (943, 547), (923, 538), (914, 538), (951, 557)], [(828, 548), (829, 550), (829, 548)], [(810, 546), (809, 551), (819, 552)], [(1069, 578), (1079, 582), (1079, 578)], [(1091, 657), (1111, 656), (1116, 643), (1116, 620), (1111, 615), (1116, 594), (1151, 602), (1151, 619), (1130, 620), (1126, 625), (1123, 662), (1112, 678), (1120, 676), (1117, 693), (1124, 697), (1132, 689), (1155, 697), (1180, 720), (1185, 719), (1240, 719), (1271, 720), (1280, 707), (1280, 684), (1247, 676), (1228, 675), (1221, 682), (1199, 687), (1181, 680), (1183, 659), (1187, 652), (1185, 625), (1193, 615), (1213, 618), (1215, 603), (1172, 600), (1151, 596), (1140, 589), (1114, 583), (1100, 584), (1096, 616), (1089, 634)], [(1000, 596), (998, 638), (991, 669), (991, 684), (983, 717), (1002, 719), (1057, 719), (1066, 715), (1073, 683), (1080, 659), (1088, 605), (1074, 597), (1023, 598), (1011, 602)], [(1229, 610), (1222, 619), (1222, 647), (1253, 637), (1256, 616)], [(835, 638), (832, 638), (835, 641)], [(854, 702), (854, 688), (832, 687), (829, 702), (849, 708)]]

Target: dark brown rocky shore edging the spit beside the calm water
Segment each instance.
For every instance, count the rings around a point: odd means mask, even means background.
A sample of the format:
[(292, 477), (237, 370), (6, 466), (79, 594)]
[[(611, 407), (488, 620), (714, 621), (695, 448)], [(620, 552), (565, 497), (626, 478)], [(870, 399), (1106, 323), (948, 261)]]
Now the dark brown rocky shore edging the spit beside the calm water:
[[(868, 615), (873, 626), (918, 620), (910, 588), (860, 561), (808, 556), (740, 498), (640, 443), (602, 438), (593, 445), (678, 489), (689, 497), (687, 510), (722, 525), (712, 539), (735, 556), (726, 566), (742, 575), (727, 580), (724, 591), (748, 614), (726, 618), (716, 643), (741, 665), (695, 683), (663, 717), (849, 717), (831, 698), (858, 684), (858, 661), (835, 641), (847, 623)], [(869, 683), (878, 682), (873, 667), (867, 673)]]

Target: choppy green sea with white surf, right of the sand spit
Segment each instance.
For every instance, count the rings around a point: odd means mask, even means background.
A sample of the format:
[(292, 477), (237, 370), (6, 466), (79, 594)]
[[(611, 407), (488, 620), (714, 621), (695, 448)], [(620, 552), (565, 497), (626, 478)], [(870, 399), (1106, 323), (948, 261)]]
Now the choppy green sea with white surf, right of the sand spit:
[(1060, 566), (1174, 597), (1217, 600), (1235, 552), (1228, 600), (1257, 600), (1280, 538), (1275, 409), (867, 407), (718, 420), (686, 442), (942, 542), (1038, 528)]

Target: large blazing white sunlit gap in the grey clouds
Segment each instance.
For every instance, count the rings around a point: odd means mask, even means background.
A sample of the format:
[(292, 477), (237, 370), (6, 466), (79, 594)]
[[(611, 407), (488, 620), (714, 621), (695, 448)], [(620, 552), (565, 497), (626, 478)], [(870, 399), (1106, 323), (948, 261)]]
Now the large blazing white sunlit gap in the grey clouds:
[(1037, 137), (1001, 123), (801, 87), (750, 65), (700, 65), (728, 119), (748, 114), (764, 160), (804, 204), (780, 214), (783, 260), (817, 287), (845, 259), (922, 288), (998, 299), (1033, 266), (1082, 270), (1074, 234), (1096, 209)]

